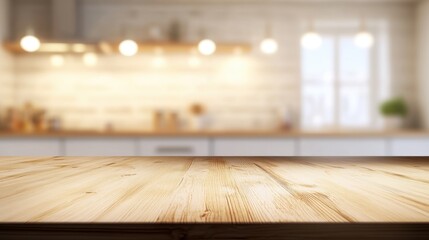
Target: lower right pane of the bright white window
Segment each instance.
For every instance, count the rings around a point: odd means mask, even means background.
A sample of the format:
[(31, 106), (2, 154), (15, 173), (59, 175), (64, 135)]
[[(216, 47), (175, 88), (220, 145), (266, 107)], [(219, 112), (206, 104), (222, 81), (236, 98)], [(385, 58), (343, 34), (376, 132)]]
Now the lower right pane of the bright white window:
[(342, 86), (339, 97), (340, 125), (369, 127), (371, 121), (368, 86)]

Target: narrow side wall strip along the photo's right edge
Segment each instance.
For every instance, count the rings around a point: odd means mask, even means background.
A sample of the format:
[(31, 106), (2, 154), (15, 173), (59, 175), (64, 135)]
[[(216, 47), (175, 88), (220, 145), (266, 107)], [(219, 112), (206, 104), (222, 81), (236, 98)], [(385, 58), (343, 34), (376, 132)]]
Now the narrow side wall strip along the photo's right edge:
[(429, 129), (429, 1), (418, 8), (418, 78), (423, 126)]

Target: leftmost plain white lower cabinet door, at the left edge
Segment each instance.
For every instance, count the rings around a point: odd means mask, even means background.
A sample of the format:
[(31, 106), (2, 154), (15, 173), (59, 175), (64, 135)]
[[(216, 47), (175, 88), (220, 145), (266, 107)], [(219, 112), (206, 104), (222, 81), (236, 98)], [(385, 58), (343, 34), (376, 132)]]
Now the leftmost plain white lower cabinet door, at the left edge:
[(0, 139), (1, 156), (60, 156), (60, 139), (14, 138)]

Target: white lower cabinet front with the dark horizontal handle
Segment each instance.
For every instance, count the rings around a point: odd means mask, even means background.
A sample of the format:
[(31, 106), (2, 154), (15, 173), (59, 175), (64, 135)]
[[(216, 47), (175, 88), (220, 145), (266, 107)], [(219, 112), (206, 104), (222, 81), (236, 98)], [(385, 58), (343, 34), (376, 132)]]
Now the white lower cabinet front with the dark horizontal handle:
[(210, 156), (207, 138), (150, 138), (138, 141), (140, 156)]

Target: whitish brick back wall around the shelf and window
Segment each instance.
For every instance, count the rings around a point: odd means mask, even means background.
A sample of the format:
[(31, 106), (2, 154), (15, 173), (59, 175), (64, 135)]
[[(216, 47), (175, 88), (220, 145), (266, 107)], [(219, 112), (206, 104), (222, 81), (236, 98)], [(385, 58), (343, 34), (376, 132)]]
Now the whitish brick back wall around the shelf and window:
[[(194, 1), (196, 2), (196, 1)], [(226, 4), (226, 5), (225, 5)], [(81, 2), (80, 33), (88, 40), (118, 40), (124, 26), (139, 39), (151, 24), (166, 27), (172, 19), (185, 26), (185, 40), (196, 41), (203, 27), (218, 42), (245, 42), (254, 51), (237, 63), (233, 56), (203, 59), (199, 69), (187, 66), (186, 54), (166, 55), (168, 66), (152, 66), (153, 56), (103, 56), (95, 68), (80, 57), (66, 56), (62, 68), (49, 66), (48, 56), (18, 57), (17, 102), (46, 107), (64, 117), (65, 126), (102, 128), (106, 121), (122, 128), (148, 128), (154, 109), (187, 113), (202, 102), (215, 127), (272, 127), (275, 110), (300, 105), (299, 39), (310, 16), (323, 24), (351, 22), (358, 29), (362, 13), (387, 27), (389, 93), (415, 101), (414, 6), (400, 3), (220, 3), (164, 4), (156, 1), (87, 0)], [(28, 11), (28, 8), (26, 8)], [(280, 51), (258, 51), (269, 19)]]

